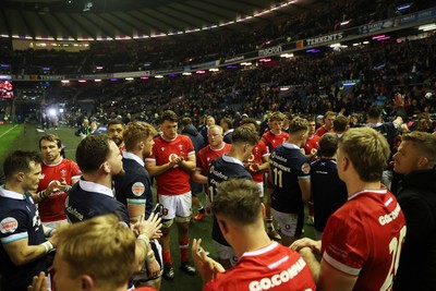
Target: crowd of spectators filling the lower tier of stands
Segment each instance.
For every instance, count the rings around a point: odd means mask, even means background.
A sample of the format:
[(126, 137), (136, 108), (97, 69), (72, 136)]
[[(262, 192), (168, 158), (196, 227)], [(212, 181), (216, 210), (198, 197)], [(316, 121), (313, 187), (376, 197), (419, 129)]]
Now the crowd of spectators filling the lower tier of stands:
[[(404, 107), (409, 117), (417, 119), (425, 108), (431, 113), (436, 111), (435, 45), (435, 36), (402, 43), (375, 41), (204, 75), (107, 82), (97, 86), (71, 84), (80, 87), (78, 97), (66, 104), (73, 114), (81, 98), (93, 98), (95, 109), (88, 113), (102, 123), (119, 116), (126, 121), (135, 118), (153, 123), (159, 111), (166, 109), (191, 117), (194, 124), (204, 114), (217, 120), (238, 113), (262, 119), (268, 109), (313, 116), (332, 110), (348, 116), (365, 112), (374, 102), (389, 116), (393, 90), (400, 88), (407, 96)], [(342, 82), (347, 80), (355, 80), (356, 84), (343, 88)], [(283, 87), (289, 89), (281, 90)], [(55, 88), (52, 95), (57, 96)]]

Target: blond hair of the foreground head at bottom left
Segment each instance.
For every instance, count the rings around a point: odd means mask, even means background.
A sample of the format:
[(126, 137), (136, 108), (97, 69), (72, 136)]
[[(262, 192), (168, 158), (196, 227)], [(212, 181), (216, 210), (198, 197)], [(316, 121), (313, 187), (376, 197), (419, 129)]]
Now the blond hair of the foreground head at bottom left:
[(137, 267), (135, 234), (116, 215), (69, 225), (57, 233), (57, 255), (68, 263), (71, 278), (88, 275), (109, 291), (125, 284)]

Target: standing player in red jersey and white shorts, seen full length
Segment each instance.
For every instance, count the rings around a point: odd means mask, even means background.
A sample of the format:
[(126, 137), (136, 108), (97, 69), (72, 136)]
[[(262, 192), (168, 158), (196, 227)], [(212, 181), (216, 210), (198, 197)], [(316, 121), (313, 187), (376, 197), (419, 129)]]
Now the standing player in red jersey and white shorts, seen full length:
[(162, 134), (155, 138), (153, 155), (145, 159), (150, 177), (156, 178), (157, 195), (164, 206), (162, 256), (164, 278), (172, 280), (174, 269), (170, 253), (170, 228), (175, 219), (181, 253), (180, 269), (190, 276), (195, 268), (189, 262), (189, 226), (191, 220), (192, 194), (190, 173), (195, 169), (195, 149), (187, 136), (179, 135), (179, 117), (171, 110), (160, 116)]

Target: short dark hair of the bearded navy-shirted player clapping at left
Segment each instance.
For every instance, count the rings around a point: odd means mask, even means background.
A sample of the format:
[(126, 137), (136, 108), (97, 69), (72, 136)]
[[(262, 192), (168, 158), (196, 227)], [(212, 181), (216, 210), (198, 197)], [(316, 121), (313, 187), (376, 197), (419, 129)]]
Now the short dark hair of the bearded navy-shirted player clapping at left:
[(88, 135), (77, 145), (75, 161), (84, 173), (97, 171), (110, 154), (110, 137), (105, 134)]

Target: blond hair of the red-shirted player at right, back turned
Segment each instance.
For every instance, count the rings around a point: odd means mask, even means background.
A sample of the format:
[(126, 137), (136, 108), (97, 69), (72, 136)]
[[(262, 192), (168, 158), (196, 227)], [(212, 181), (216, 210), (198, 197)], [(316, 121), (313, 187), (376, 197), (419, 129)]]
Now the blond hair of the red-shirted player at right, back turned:
[(382, 180), (390, 149), (379, 132), (370, 126), (350, 129), (339, 140), (339, 148), (348, 156), (362, 181)]

